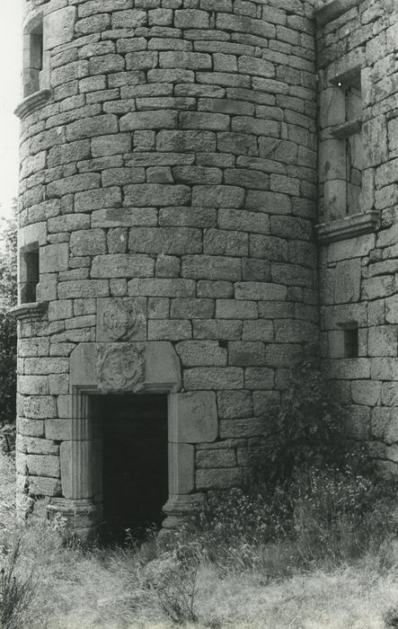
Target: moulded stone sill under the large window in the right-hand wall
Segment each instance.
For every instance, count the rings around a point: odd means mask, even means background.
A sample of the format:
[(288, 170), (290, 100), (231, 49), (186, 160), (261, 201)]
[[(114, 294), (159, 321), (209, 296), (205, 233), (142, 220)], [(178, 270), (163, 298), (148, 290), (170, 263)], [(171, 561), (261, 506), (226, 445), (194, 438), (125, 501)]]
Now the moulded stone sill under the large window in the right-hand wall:
[(321, 244), (336, 243), (359, 235), (370, 234), (375, 231), (379, 222), (379, 212), (371, 210), (365, 214), (353, 214), (349, 217), (320, 223), (315, 227), (318, 241)]

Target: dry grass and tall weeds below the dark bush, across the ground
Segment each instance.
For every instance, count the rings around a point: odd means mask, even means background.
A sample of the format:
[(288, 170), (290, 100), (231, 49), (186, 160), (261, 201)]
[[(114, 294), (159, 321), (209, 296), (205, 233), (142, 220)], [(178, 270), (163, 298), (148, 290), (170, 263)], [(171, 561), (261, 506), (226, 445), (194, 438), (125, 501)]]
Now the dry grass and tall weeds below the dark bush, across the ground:
[[(2, 474), (13, 472), (0, 461)], [(12, 484), (0, 483), (10, 521)], [(6, 495), (5, 495), (6, 494)], [(272, 499), (272, 500), (271, 500)], [(179, 536), (143, 545), (67, 545), (62, 523), (4, 527), (2, 563), (29, 605), (4, 629), (381, 629), (394, 626), (398, 544), (383, 486), (329, 470), (269, 501), (227, 493)], [(2, 508), (2, 509), (3, 509)], [(40, 505), (38, 505), (40, 511)], [(15, 534), (19, 542), (14, 545)], [(32, 579), (30, 579), (32, 575)], [(23, 598), (23, 597), (22, 597)], [(1, 610), (0, 610), (1, 612)], [(390, 625), (388, 625), (390, 623)]]

